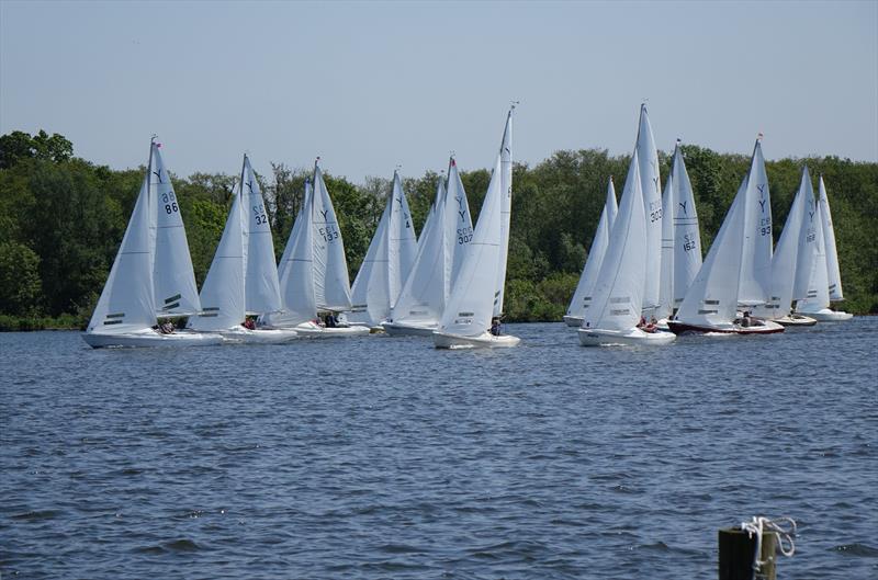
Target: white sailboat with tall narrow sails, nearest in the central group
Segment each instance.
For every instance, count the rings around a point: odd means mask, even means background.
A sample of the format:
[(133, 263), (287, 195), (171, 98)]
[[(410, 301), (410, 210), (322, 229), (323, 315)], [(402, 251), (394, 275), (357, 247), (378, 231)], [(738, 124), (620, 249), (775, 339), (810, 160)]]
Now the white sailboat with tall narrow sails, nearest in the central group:
[(439, 329), (432, 333), (438, 349), (509, 348), (521, 341), (499, 332), (511, 208), (511, 112), (471, 246), (463, 253)]

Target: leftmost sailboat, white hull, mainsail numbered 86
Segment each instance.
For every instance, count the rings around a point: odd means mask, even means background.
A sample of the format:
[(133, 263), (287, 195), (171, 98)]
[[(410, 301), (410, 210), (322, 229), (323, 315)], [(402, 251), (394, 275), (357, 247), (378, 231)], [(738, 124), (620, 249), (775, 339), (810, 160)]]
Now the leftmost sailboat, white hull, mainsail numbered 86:
[(154, 328), (159, 317), (192, 315), (201, 309), (198, 293), (192, 292), (195, 281), (182, 228), (177, 195), (154, 138), (125, 236), (82, 334), (90, 346), (223, 342), (218, 334), (162, 333)]

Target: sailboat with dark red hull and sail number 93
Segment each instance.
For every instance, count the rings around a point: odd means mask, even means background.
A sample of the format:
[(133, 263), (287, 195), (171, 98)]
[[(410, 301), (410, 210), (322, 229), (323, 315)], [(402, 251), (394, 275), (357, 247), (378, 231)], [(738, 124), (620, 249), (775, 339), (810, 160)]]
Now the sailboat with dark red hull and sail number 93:
[(783, 326), (752, 319), (746, 310), (742, 318), (736, 317), (739, 305), (747, 308), (768, 302), (770, 246), (766, 255), (766, 241), (770, 244), (770, 237), (768, 180), (757, 139), (750, 171), (676, 318), (667, 322), (671, 330), (677, 334), (783, 332)]

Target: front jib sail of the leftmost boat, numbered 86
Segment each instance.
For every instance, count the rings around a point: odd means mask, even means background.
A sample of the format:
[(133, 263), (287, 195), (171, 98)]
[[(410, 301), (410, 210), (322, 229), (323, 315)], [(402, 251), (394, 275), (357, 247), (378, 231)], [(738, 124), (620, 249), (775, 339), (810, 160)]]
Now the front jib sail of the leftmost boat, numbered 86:
[(148, 178), (145, 177), (119, 253), (91, 315), (87, 330), (90, 333), (122, 334), (156, 323), (150, 205)]

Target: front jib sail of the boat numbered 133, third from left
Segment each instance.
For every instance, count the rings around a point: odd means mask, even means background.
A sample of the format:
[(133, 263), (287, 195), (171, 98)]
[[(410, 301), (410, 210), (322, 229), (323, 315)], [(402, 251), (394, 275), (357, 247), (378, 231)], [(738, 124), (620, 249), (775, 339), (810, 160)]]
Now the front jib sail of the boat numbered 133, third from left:
[(305, 196), (278, 266), (281, 312), (264, 315), (261, 321), (274, 327), (294, 327), (317, 317), (314, 296), (314, 190), (305, 181)]

